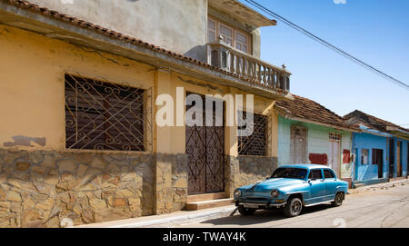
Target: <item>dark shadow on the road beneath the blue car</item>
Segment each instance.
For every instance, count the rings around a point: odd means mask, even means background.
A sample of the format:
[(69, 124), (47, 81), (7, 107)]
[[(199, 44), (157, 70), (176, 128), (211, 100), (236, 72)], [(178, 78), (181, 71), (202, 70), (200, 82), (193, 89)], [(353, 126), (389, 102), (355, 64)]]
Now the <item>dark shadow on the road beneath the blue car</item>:
[[(312, 213), (312, 212), (318, 212), (318, 211), (324, 211), (329, 208), (331, 208), (331, 205), (327, 205), (327, 204), (321, 204), (321, 205), (316, 205), (314, 207), (304, 208), (298, 217), (302, 218), (303, 215), (305, 214)], [(284, 217), (283, 210), (276, 209), (276, 210), (267, 210), (267, 211), (257, 211), (253, 215), (250, 215), (250, 216), (242, 216), (238, 212), (236, 212), (235, 215), (232, 217), (218, 218), (218, 219), (213, 219), (213, 220), (208, 220), (208, 221), (202, 221), (200, 223), (201, 224), (213, 224), (213, 225), (252, 225), (252, 224), (260, 224), (260, 223), (271, 222), (271, 221), (284, 221), (284, 220), (290, 220), (290, 219), (291, 218)]]

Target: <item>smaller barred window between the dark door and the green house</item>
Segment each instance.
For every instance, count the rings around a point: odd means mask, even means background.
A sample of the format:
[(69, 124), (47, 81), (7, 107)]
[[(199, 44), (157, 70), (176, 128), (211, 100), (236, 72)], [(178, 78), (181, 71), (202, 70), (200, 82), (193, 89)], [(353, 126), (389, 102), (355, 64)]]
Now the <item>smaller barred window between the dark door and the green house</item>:
[[(246, 112), (243, 112), (244, 119)], [(268, 117), (254, 113), (254, 130), (250, 136), (238, 137), (238, 153), (242, 155), (267, 155)]]

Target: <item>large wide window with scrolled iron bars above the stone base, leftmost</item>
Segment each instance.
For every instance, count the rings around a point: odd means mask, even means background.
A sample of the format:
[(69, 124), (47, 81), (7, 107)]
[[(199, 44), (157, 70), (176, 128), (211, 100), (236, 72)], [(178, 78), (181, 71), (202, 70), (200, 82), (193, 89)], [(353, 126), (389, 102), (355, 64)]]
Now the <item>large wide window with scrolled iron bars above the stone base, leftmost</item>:
[(67, 149), (145, 151), (145, 90), (65, 74)]

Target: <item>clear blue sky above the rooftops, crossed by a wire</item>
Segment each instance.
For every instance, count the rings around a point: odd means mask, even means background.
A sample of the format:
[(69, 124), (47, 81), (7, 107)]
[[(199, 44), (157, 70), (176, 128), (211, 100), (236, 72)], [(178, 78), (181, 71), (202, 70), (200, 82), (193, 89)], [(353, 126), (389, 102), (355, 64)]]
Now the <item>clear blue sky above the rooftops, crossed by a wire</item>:
[[(409, 84), (409, 1), (346, 0), (344, 5), (335, 5), (334, 0), (256, 1)], [(261, 30), (262, 59), (287, 65), (293, 74), (291, 93), (322, 103), (340, 115), (358, 109), (409, 128), (408, 90), (280, 21)]]

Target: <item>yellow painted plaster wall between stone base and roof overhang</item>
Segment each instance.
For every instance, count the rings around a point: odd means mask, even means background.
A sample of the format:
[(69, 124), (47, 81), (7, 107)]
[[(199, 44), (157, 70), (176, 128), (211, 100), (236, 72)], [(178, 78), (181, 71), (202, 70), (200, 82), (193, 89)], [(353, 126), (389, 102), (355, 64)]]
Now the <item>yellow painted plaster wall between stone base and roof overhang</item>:
[[(0, 146), (6, 148), (65, 150), (65, 73), (154, 88), (154, 98), (161, 93), (176, 98), (176, 87), (201, 94), (247, 94), (5, 25), (0, 25), (0, 53)], [(255, 113), (268, 113), (273, 104), (274, 100), (254, 96)], [(156, 139), (154, 152), (185, 153), (184, 127), (163, 127), (155, 134), (159, 132), (175, 137), (176, 143)], [(234, 144), (234, 131), (231, 134), (229, 142)], [(276, 156), (276, 144), (269, 147), (268, 153)]]

